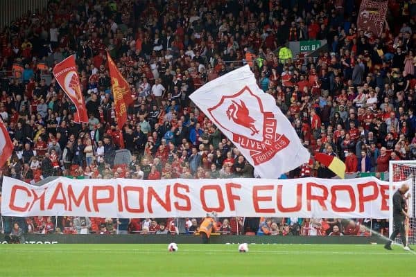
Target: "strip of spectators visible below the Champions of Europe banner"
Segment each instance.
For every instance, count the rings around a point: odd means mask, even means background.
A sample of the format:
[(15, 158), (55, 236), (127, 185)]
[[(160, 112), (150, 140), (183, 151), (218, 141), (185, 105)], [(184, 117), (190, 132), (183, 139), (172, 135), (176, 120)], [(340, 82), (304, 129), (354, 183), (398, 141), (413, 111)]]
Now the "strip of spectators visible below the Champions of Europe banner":
[[(100, 235), (198, 235), (203, 219), (113, 219), (99, 217), (3, 217), (4, 233), (17, 224), (21, 233), (33, 234), (100, 234)], [(0, 229), (0, 231), (2, 231)], [(215, 235), (357, 235), (369, 236), (372, 231), (388, 236), (388, 220), (342, 220), (318, 218), (221, 218)]]

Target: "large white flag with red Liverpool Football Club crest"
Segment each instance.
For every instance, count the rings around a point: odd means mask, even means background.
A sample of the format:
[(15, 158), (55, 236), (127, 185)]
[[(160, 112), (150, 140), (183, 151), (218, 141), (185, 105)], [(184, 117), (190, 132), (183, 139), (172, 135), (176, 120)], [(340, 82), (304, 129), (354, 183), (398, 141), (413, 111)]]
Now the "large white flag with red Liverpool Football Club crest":
[(189, 96), (236, 145), (262, 178), (278, 178), (309, 161), (276, 100), (256, 83), (248, 65), (208, 82)]

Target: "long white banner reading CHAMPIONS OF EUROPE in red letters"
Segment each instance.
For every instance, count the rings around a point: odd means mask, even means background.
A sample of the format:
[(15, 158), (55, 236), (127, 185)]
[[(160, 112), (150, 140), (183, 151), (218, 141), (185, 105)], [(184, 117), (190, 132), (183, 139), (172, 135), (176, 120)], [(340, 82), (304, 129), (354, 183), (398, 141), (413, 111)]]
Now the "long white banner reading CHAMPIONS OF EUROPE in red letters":
[(220, 217), (388, 218), (388, 201), (388, 182), (374, 177), (159, 181), (60, 177), (43, 186), (4, 177), (1, 214), (157, 218), (204, 217), (215, 211)]

